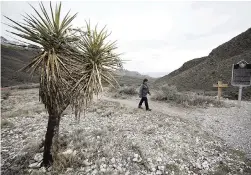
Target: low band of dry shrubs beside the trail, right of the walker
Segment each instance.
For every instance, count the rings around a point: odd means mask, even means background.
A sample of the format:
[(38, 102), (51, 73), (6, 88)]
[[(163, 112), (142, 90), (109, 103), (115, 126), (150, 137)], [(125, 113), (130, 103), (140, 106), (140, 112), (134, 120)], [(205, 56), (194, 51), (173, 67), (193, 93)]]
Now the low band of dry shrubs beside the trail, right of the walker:
[(223, 102), (214, 99), (213, 97), (197, 95), (196, 93), (178, 92), (175, 86), (164, 85), (155, 95), (152, 100), (167, 101), (183, 106), (222, 106)]

